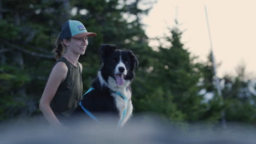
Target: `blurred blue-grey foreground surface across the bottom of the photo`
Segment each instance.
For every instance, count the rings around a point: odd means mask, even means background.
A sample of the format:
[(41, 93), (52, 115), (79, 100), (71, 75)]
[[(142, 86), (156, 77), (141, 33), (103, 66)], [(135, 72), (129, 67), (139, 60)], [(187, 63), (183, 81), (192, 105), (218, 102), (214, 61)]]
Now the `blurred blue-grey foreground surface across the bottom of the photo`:
[(51, 129), (42, 118), (0, 124), (0, 143), (255, 143), (256, 129), (232, 124), (228, 129), (205, 124), (163, 122), (159, 116), (135, 115), (122, 129), (110, 118), (97, 124), (75, 121), (70, 130)]

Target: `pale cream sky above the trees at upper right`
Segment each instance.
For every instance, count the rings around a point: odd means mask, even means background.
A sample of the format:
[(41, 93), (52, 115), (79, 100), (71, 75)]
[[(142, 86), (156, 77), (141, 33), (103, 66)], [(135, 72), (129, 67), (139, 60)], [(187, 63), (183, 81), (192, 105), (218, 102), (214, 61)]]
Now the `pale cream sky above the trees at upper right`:
[[(170, 35), (177, 14), (179, 28), (192, 55), (206, 61), (210, 52), (205, 5), (207, 7), (213, 52), (218, 76), (235, 75), (238, 64), (246, 65), (248, 75), (256, 75), (256, 0), (158, 0), (142, 22), (149, 38)], [(176, 13), (177, 11), (177, 13)], [(150, 45), (156, 45), (153, 41)]]

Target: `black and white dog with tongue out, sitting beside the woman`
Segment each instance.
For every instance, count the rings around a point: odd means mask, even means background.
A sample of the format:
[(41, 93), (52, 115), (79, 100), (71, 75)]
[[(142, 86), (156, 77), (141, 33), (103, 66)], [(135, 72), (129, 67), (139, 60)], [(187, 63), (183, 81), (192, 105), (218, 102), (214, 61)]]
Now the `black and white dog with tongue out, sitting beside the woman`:
[(132, 115), (130, 86), (138, 60), (131, 50), (117, 50), (115, 45), (102, 44), (100, 53), (102, 67), (74, 113), (94, 121), (104, 120), (99, 114), (113, 114), (122, 127)]

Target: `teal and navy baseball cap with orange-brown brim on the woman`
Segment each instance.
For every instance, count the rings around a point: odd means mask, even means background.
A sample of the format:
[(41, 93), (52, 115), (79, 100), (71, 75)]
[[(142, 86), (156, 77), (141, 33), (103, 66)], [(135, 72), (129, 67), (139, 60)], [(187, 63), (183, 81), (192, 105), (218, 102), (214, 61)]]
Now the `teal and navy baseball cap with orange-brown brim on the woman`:
[(60, 39), (95, 37), (96, 33), (87, 32), (85, 26), (80, 21), (68, 20), (61, 27)]

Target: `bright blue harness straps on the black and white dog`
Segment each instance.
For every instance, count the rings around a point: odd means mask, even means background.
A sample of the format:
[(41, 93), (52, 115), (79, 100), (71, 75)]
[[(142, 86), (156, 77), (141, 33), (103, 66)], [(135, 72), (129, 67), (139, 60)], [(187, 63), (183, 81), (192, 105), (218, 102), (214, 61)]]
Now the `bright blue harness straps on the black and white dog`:
[[(95, 89), (95, 88), (91, 87), (91, 88), (84, 94), (84, 96), (85, 96), (86, 94), (88, 94), (89, 92), (91, 92), (92, 90), (94, 90), (94, 89)], [(117, 95), (119, 95), (120, 97), (122, 97), (122, 98), (125, 100), (125, 103), (126, 103), (125, 109), (124, 109), (124, 111), (123, 111), (122, 119), (121, 119), (121, 121), (119, 121), (119, 123), (118, 123), (118, 128), (120, 128), (121, 124), (122, 124), (123, 121), (124, 121), (125, 115), (126, 115), (128, 99), (127, 99), (126, 97), (124, 97), (124, 95), (121, 94), (121, 93), (119, 93), (119, 92), (115, 92), (114, 94), (117, 94)], [(83, 97), (84, 97), (84, 96), (83, 96)], [(97, 119), (94, 115), (92, 115), (92, 113), (91, 113), (90, 111), (88, 111), (87, 109), (85, 109), (85, 107), (82, 105), (82, 102), (81, 102), (81, 101), (80, 101), (79, 105), (82, 107), (82, 109), (84, 110), (84, 112), (87, 113), (88, 116), (90, 116), (92, 119), (94, 119), (94, 121), (100, 123), (100, 121), (98, 121), (98, 119)]]

